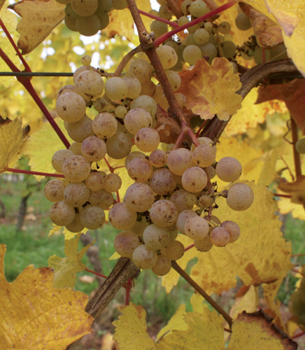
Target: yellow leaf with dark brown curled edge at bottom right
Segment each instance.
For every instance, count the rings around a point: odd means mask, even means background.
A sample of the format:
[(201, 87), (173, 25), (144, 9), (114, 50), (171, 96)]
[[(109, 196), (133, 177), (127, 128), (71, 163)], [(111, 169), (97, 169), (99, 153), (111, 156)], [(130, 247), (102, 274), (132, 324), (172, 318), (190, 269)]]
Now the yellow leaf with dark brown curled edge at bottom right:
[(243, 312), (232, 325), (232, 336), (227, 350), (295, 350), (297, 343), (272, 324), (272, 318), (263, 311)]

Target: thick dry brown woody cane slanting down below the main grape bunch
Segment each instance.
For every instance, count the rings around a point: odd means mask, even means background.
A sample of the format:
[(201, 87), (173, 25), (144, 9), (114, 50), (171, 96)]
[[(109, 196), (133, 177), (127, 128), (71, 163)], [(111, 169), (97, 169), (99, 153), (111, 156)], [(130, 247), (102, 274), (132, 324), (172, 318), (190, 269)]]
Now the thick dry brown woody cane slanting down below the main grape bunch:
[[(118, 290), (127, 283), (129, 279), (139, 274), (139, 272), (139, 267), (136, 267), (132, 260), (129, 258), (120, 258), (106, 281), (89, 300), (85, 311), (94, 318), (97, 318), (109, 302), (113, 300)], [(80, 339), (69, 345), (66, 350), (76, 349), (79, 342)]]

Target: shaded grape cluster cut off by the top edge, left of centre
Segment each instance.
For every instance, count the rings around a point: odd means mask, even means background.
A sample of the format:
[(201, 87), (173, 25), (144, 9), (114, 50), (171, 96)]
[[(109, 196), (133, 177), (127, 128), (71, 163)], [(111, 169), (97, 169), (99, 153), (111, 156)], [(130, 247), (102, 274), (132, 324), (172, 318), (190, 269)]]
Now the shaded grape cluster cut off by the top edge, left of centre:
[(126, 0), (56, 0), (66, 5), (64, 22), (71, 31), (84, 36), (97, 34), (109, 24), (111, 10), (127, 8)]

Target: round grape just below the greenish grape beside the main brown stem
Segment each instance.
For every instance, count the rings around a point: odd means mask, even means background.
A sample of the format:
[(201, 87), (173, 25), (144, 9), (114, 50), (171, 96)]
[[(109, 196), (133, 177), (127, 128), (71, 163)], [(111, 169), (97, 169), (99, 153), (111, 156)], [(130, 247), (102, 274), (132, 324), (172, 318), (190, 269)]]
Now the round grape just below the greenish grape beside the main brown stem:
[(142, 127), (152, 126), (152, 117), (145, 109), (131, 109), (124, 118), (124, 125), (130, 134), (135, 135)]

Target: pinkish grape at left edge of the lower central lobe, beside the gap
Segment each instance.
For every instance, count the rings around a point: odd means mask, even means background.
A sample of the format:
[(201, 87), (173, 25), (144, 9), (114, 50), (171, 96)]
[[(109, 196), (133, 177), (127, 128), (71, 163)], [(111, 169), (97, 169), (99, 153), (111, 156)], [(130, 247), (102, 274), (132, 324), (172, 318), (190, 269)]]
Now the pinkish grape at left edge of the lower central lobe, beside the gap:
[(118, 230), (129, 230), (136, 223), (136, 211), (127, 207), (126, 203), (116, 203), (109, 210), (109, 223)]

